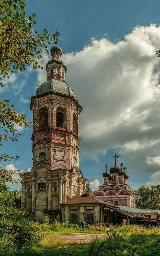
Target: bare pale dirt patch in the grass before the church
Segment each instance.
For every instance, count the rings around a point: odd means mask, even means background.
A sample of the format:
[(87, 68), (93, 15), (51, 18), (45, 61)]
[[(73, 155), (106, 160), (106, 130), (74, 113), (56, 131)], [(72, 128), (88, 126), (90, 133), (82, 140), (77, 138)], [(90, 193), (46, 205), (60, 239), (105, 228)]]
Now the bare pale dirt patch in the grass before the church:
[(106, 237), (105, 234), (90, 234), (90, 233), (58, 233), (54, 235), (49, 235), (49, 237), (59, 238), (63, 240), (72, 240), (72, 241), (90, 241), (95, 239), (95, 237), (103, 238)]

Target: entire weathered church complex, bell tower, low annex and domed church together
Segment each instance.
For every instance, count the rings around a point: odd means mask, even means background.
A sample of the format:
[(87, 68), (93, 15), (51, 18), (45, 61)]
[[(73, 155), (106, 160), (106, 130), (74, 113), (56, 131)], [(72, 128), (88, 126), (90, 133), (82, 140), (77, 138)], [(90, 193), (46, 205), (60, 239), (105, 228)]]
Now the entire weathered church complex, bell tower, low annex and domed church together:
[[(20, 173), (22, 204), (35, 212), (36, 220), (49, 222), (60, 215), (72, 223), (117, 223), (130, 217), (119, 205), (135, 207), (135, 195), (127, 185), (128, 176), (115, 165), (103, 173), (104, 184), (94, 193), (86, 192), (87, 179), (79, 168), (79, 116), (82, 107), (74, 91), (65, 82), (66, 66), (62, 49), (51, 48), (52, 59), (46, 65), (47, 81), (40, 84), (31, 98), (33, 112), (33, 167)], [(123, 166), (123, 165), (120, 165)]]

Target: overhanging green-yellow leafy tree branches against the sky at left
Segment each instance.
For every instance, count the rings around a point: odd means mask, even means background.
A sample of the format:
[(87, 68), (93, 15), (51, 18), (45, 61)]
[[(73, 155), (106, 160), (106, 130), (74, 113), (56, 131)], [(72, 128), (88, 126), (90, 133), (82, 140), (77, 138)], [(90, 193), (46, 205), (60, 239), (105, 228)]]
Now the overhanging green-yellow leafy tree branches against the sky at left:
[[(45, 28), (42, 33), (34, 29), (35, 13), (26, 17), (25, 0), (0, 0), (0, 86), (5, 86), (3, 79), (9, 79), (10, 74), (18, 74), (31, 65), (33, 69), (43, 69), (37, 60), (42, 58), (42, 50), (49, 53), (47, 45), (55, 42)], [(0, 146), (3, 140), (15, 141), (21, 135), (16, 130), (16, 124), (29, 127), (31, 123), (26, 116), (17, 113), (9, 100), (0, 100)], [(2, 152), (2, 150), (1, 150)], [(0, 155), (0, 161), (17, 160), (6, 153)], [(13, 181), (15, 171), (0, 168), (0, 180)]]

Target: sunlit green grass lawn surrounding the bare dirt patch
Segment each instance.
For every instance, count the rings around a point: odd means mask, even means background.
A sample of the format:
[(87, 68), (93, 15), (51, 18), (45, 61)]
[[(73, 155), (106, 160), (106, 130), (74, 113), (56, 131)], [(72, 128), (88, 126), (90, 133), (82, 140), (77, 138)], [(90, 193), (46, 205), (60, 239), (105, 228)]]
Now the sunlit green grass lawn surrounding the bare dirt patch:
[[(44, 231), (45, 235), (41, 245), (12, 255), (160, 256), (160, 228), (146, 229), (136, 225), (130, 225), (129, 227), (111, 226), (107, 230), (107, 238), (98, 239), (95, 242), (93, 240), (89, 242), (72, 240), (72, 233), (82, 232), (73, 228)], [(58, 234), (65, 235), (65, 233), (71, 235), (71, 240), (57, 238)], [(86, 229), (83, 233), (98, 232)], [(106, 233), (106, 229), (99, 230), (100, 233)]]

